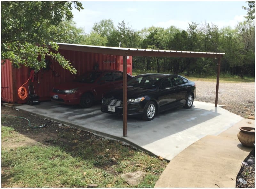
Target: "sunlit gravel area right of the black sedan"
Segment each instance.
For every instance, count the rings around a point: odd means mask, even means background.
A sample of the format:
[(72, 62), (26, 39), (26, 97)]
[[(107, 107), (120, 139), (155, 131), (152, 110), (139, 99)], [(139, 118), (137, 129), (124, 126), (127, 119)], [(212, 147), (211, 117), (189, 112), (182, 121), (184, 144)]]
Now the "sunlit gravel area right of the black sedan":
[[(255, 83), (220, 83), (218, 104), (244, 118), (255, 114)], [(196, 81), (196, 99), (215, 104), (216, 82)]]

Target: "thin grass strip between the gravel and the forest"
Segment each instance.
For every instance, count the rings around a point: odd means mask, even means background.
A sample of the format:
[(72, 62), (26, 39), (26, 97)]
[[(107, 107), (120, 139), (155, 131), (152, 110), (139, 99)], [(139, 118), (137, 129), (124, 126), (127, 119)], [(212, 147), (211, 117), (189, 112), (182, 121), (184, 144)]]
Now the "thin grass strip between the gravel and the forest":
[[(146, 74), (146, 73), (157, 73), (157, 71), (151, 70), (151, 71), (145, 71), (145, 70), (136, 70), (133, 69), (132, 75), (139, 75), (139, 74)], [(160, 72), (161, 74), (171, 74), (170, 72)], [(186, 78), (188, 78), (191, 81), (208, 81), (208, 82), (216, 82), (217, 80), (217, 74), (216, 75), (189, 75), (185, 76), (183, 74), (180, 74)], [(255, 82), (255, 78), (252, 76), (244, 76), (244, 78), (241, 78), (238, 75), (230, 75), (230, 74), (223, 74), (220, 73), (220, 82), (222, 83), (239, 83), (239, 82)]]

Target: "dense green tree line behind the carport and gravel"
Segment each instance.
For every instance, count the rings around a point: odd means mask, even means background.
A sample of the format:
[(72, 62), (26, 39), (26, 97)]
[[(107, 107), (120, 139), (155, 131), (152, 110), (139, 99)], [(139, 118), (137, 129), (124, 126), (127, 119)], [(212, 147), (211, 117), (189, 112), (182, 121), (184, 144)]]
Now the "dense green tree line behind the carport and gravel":
[[(110, 19), (95, 23), (90, 34), (83, 34), (74, 22), (73, 38), (62, 38), (58, 42), (86, 45), (160, 49), (176, 51), (224, 52), (221, 59), (221, 72), (229, 75), (254, 76), (254, 17), (239, 22), (236, 28), (218, 28), (209, 23), (188, 23), (187, 30), (175, 26), (169, 28), (150, 27), (134, 30), (124, 21), (115, 27)], [(66, 38), (66, 39), (67, 39)], [(133, 57), (132, 67), (135, 70), (164, 72), (184, 75), (215, 75), (217, 60), (212, 58), (166, 58), (166, 57)]]

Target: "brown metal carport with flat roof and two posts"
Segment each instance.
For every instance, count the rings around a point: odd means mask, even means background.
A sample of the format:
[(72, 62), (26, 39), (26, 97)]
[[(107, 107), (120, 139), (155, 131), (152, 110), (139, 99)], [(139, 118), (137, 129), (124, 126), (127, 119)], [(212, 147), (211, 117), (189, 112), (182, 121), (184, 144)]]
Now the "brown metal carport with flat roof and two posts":
[(192, 51), (171, 51), (171, 50), (149, 50), (119, 47), (103, 47), (91, 45), (77, 45), (57, 43), (59, 49), (84, 51), (101, 54), (123, 56), (123, 136), (127, 136), (127, 56), (148, 56), (148, 57), (182, 57), (182, 58), (214, 58), (217, 59), (217, 81), (215, 107), (218, 105), (218, 92), (220, 80), (220, 60), (225, 53), (217, 52), (192, 52)]

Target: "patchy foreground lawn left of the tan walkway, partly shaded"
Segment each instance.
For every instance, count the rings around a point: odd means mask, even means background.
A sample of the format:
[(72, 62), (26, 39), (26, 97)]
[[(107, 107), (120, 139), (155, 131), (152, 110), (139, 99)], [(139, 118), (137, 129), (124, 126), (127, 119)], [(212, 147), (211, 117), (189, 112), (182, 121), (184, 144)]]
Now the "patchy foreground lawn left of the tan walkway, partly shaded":
[[(7, 119), (11, 118), (2, 117), (1, 128), (4, 187), (87, 187), (88, 184), (132, 187), (121, 178), (121, 174), (138, 170), (145, 171), (146, 176), (135, 187), (154, 187), (167, 165), (166, 161), (124, 146), (119, 141), (96, 137), (83, 140), (83, 136), (89, 135), (86, 131), (76, 134), (77, 130), (63, 129), (58, 131), (59, 138), (49, 138), (47, 143), (5, 147), (3, 141), (21, 135), (15, 131), (19, 126), (14, 129), (3, 125)], [(45, 130), (47, 128), (41, 132)], [(33, 131), (38, 132), (30, 132)], [(32, 135), (36, 136), (36, 133)], [(63, 142), (64, 139), (67, 142)], [(113, 157), (116, 161), (111, 159)]]

